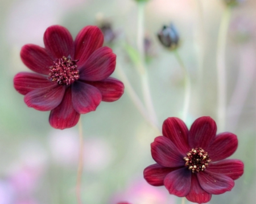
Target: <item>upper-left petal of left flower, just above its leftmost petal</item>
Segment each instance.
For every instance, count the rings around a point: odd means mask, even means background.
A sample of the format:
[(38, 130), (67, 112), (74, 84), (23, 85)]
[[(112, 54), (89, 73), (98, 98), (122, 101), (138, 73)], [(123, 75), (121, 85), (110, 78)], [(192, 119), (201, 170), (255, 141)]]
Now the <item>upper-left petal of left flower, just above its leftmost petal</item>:
[(46, 52), (46, 49), (33, 44), (27, 44), (22, 47), (20, 58), (29, 69), (45, 75), (49, 74), (49, 67), (52, 66), (54, 60)]

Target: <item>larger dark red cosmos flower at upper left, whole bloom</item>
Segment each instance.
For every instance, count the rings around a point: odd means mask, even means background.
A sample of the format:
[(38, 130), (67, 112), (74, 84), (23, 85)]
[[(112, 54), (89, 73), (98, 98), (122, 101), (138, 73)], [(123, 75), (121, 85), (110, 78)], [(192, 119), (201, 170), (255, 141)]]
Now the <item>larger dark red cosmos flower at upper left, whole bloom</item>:
[(73, 41), (67, 28), (53, 25), (44, 33), (44, 45), (22, 47), (23, 63), (36, 73), (18, 73), (14, 87), (25, 95), (28, 107), (51, 111), (53, 128), (75, 126), (80, 114), (95, 111), (101, 101), (123, 94), (123, 83), (109, 77), (115, 69), (112, 49), (102, 47), (104, 36), (96, 26), (86, 26)]

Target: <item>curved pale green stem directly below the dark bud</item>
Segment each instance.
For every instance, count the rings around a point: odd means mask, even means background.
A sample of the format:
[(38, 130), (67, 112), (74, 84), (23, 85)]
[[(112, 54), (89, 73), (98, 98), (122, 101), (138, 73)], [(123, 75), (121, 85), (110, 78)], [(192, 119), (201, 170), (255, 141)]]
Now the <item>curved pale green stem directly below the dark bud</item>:
[(189, 109), (189, 103), (190, 103), (190, 95), (191, 95), (191, 80), (189, 78), (189, 74), (188, 74), (188, 70), (185, 68), (185, 65), (181, 59), (181, 57), (179, 56), (179, 53), (177, 52), (177, 50), (174, 50), (174, 54), (175, 57), (177, 59), (177, 61), (180, 64), (180, 67), (183, 71), (184, 74), (184, 83), (185, 83), (185, 96), (184, 96), (184, 105), (183, 105), (183, 114), (182, 114), (182, 118), (183, 121), (186, 122), (187, 121), (187, 117), (188, 117), (188, 109)]

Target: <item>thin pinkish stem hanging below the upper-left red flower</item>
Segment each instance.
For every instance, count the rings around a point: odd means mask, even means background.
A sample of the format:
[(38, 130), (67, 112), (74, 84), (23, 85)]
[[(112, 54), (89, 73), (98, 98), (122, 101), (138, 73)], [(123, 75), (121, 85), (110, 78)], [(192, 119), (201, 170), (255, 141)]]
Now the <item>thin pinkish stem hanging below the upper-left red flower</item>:
[(84, 166), (84, 139), (82, 138), (82, 121), (79, 120), (79, 167), (77, 169), (77, 182), (76, 182), (76, 197), (77, 203), (82, 204), (81, 199), (81, 182), (82, 182), (82, 168)]

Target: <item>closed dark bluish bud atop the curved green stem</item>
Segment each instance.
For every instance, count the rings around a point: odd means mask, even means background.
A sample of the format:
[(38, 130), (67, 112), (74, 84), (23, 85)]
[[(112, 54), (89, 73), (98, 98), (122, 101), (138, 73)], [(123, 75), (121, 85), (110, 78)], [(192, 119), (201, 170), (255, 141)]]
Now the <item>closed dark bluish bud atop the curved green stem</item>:
[(158, 39), (168, 49), (174, 50), (179, 46), (179, 34), (172, 23), (170, 26), (163, 26), (162, 30), (158, 33)]

